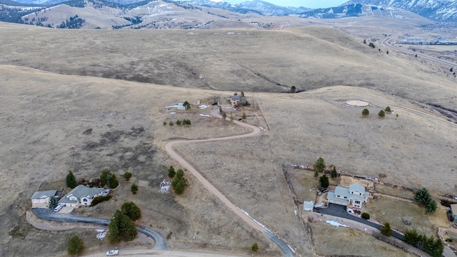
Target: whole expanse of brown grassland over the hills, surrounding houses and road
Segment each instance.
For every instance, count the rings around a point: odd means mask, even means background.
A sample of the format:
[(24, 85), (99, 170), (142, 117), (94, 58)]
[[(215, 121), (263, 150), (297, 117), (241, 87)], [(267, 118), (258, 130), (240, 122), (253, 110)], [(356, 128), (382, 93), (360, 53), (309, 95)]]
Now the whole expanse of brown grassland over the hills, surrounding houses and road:
[[(306, 221), (293, 213), (296, 205), (284, 163), (312, 166), (323, 156), (338, 169), (384, 174), (386, 183), (426, 186), (433, 193), (457, 188), (456, 181), (448, 179), (456, 176), (457, 125), (424, 105), (457, 109), (456, 82), (440, 74), (443, 67), (373, 51), (360, 39), (328, 28), (227, 30), (220, 35), (29, 28), (0, 24), (0, 234), (10, 233), (0, 236), (5, 246), (0, 256), (29, 255), (24, 245), (33, 244), (41, 246), (34, 247), (36, 256), (65, 254), (66, 241), (75, 232), (31, 227), (25, 220), (29, 198), (40, 183), (61, 181), (69, 169), (77, 178), (92, 178), (102, 168), (116, 173), (120, 188), (111, 201), (78, 213), (110, 218), (124, 201), (134, 201), (143, 211), (139, 223), (164, 236), (173, 232), (171, 248), (249, 254), (257, 242), (259, 255), (280, 255), (271, 241), (246, 226), (192, 176), (184, 196), (159, 192), (167, 168), (178, 167), (164, 151), (167, 141), (246, 133), (230, 121), (199, 116), (211, 115), (209, 109), (194, 106), (171, 114), (164, 106), (182, 101), (212, 104), (214, 96), (235, 91), (244, 91), (258, 106), (242, 110), (261, 117), (248, 116), (246, 123), (266, 131), (251, 138), (182, 144), (176, 150), (302, 256), (329, 255), (325, 235), (346, 231), (313, 224), (318, 249), (311, 247)], [(291, 85), (306, 91), (281, 94)], [(368, 117), (346, 106), (355, 99), (370, 103)], [(379, 119), (378, 111), (386, 106), (395, 114)], [(190, 119), (192, 125), (163, 125), (177, 119)], [(89, 128), (93, 132), (83, 135)], [(123, 181), (125, 171), (134, 174), (131, 182)], [(311, 176), (293, 175), (294, 187), (311, 187), (316, 178), (306, 172)], [(137, 195), (130, 193), (131, 183), (139, 184)], [(315, 196), (316, 191), (308, 189), (298, 189), (301, 198)], [(379, 208), (396, 213), (388, 203)], [(382, 219), (382, 214), (373, 215)], [(402, 228), (401, 219), (388, 219)], [(423, 222), (413, 221), (430, 231), (430, 221)], [(94, 236), (94, 231), (77, 233)], [(371, 242), (361, 232), (350, 234), (354, 241)], [(86, 253), (112, 247), (104, 242), (90, 243)], [(138, 246), (150, 247), (151, 241), (141, 240)], [(331, 247), (333, 255), (358, 255), (371, 246)], [(376, 249), (401, 254), (379, 242)]]

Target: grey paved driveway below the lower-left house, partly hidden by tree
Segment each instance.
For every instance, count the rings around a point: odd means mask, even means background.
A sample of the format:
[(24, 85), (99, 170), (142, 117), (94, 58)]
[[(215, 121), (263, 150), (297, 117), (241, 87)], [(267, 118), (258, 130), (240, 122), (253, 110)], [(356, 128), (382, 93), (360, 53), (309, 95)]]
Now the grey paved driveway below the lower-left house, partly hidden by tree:
[[(59, 222), (81, 222), (81, 223), (90, 223), (96, 225), (108, 226), (109, 220), (106, 218), (91, 218), (76, 216), (71, 213), (56, 213), (51, 208), (33, 208), (32, 211), (38, 218), (43, 218), (47, 221), (59, 221)], [(146, 236), (150, 236), (156, 243), (152, 249), (159, 251), (169, 251), (170, 248), (166, 244), (165, 238), (158, 232), (153, 231), (149, 228), (136, 227), (140, 233), (144, 233)]]

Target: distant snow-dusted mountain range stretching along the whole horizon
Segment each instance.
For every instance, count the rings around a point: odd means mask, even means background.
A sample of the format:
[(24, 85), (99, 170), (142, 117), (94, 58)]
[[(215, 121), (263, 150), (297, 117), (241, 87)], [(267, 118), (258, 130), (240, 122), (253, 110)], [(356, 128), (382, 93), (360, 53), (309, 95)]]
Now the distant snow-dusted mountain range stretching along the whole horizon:
[[(96, 0), (97, 3), (94, 1), (95, 0), (0, 0), (0, 6), (1, 4), (4, 4), (3, 11), (0, 9), (0, 21), (21, 23), (24, 21), (24, 16), (26, 14), (34, 12), (33, 9), (24, 8), (22, 11), (20, 11), (17, 8), (8, 7), (16, 6), (17, 4), (15, 3), (20, 3), (24, 5), (40, 4), (46, 6), (46, 8), (56, 6), (57, 4), (66, 4), (68, 6), (75, 7), (84, 7), (88, 5), (96, 7), (102, 5), (122, 10), (131, 10), (142, 6), (142, 8), (146, 8), (148, 10), (147, 13), (144, 13), (146, 16), (151, 14), (152, 10), (163, 9), (164, 4), (166, 4), (166, 10), (163, 10), (161, 14), (169, 13), (171, 9), (176, 8), (180, 10), (199, 9), (200, 11), (205, 9), (203, 11), (205, 14), (201, 15), (205, 16), (206, 14), (211, 14), (213, 16), (219, 16), (224, 19), (229, 19), (229, 16), (234, 18), (234, 14), (259, 14), (262, 16), (298, 16), (301, 18), (313, 19), (338, 19), (353, 16), (382, 16), (396, 19), (408, 19), (411, 17), (411, 13), (413, 13), (433, 21), (457, 22), (457, 0), (350, 0), (345, 4), (341, 4), (340, 6), (326, 9), (277, 6), (275, 4), (261, 0), (244, 1), (239, 4), (230, 4), (225, 1), (214, 0)], [(162, 3), (162, 6), (160, 4), (157, 5), (159, 2)], [(221, 13), (222, 10), (224, 11)], [(76, 15), (77, 11), (73, 12), (74, 15)], [(174, 11), (174, 13), (178, 14), (179, 10)], [(138, 11), (132, 11), (131, 14), (135, 14), (134, 16), (131, 16), (132, 19), (136, 19), (136, 16), (141, 17)], [(44, 17), (42, 17), (42, 19), (44, 19)], [(144, 18), (141, 19), (144, 20)], [(211, 18), (206, 19), (203, 16), (201, 19), (203, 24), (211, 21)], [(55, 21), (54, 24), (56, 22), (60, 23), (61, 21)], [(37, 23), (35, 22), (34, 24), (36, 25)], [(111, 25), (124, 26), (120, 23), (120, 21), (114, 22), (114, 24)]]

